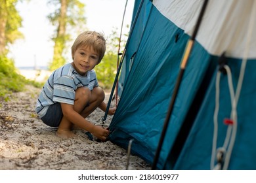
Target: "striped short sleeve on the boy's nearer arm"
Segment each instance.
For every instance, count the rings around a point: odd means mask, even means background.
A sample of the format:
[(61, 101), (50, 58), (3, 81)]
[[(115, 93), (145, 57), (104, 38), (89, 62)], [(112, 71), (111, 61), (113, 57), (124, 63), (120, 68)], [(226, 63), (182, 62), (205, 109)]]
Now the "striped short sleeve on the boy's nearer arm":
[(70, 76), (61, 76), (54, 81), (53, 101), (74, 105), (75, 83)]

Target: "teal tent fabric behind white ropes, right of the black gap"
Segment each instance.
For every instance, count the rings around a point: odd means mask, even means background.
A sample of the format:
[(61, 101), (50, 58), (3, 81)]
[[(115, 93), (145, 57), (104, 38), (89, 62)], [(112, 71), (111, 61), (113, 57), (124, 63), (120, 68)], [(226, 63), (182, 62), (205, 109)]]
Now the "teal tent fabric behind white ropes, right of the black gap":
[[(238, 83), (241, 59), (227, 59), (230, 67), (234, 88)], [(247, 61), (244, 82), (240, 99), (238, 101), (238, 130), (234, 150), (230, 158), (228, 169), (247, 170), (256, 169), (256, 146), (255, 146), (255, 119), (253, 112), (256, 108), (256, 80), (254, 69), (256, 60)], [(217, 72), (217, 70), (216, 70)], [(186, 143), (182, 148), (179, 159), (175, 163), (174, 169), (210, 169), (211, 151), (213, 143), (213, 114), (215, 110), (215, 79), (216, 72), (211, 79), (207, 95), (203, 99), (200, 112), (196, 116), (194, 125), (188, 135)], [(220, 84), (220, 108), (219, 108), (219, 133), (217, 147), (223, 146), (226, 137), (227, 125), (225, 118), (230, 118), (231, 103), (228, 89), (227, 75), (221, 76)], [(169, 154), (171, 158), (171, 154)], [(168, 165), (167, 165), (168, 166)]]

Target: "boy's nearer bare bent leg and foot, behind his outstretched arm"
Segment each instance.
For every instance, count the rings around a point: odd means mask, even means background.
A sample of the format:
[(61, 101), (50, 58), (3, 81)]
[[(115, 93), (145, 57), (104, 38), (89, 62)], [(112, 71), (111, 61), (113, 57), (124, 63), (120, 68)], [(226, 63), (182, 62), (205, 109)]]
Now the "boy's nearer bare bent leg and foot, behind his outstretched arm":
[[(75, 91), (75, 103), (74, 110), (78, 113), (85, 108), (85, 106), (89, 103), (91, 98), (91, 91), (89, 88), (77, 88)], [(73, 127), (72, 122), (70, 122), (65, 116), (63, 116), (60, 125), (58, 126), (58, 130), (56, 135), (58, 137), (70, 138), (74, 137), (73, 131), (71, 131)]]

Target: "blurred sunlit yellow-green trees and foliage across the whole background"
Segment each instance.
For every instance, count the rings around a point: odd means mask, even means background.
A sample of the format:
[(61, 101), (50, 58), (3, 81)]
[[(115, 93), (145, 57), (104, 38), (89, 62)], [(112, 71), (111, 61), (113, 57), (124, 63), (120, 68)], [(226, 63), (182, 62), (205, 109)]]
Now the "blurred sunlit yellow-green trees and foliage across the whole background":
[[(18, 3), (29, 3), (33, 0), (1, 0), (0, 3), (0, 97), (8, 100), (7, 94), (24, 90), (26, 84), (32, 84), (38, 88), (43, 86), (43, 82), (28, 80), (20, 75), (15, 67), (15, 60), (10, 56), (11, 46), (19, 39), (24, 39), (20, 31), (22, 27), (22, 16), (17, 10)], [(49, 0), (47, 5), (51, 7), (51, 12), (47, 20), (54, 27), (51, 41), (53, 41), (53, 58), (49, 61), (47, 68), (54, 71), (65, 63), (68, 63), (67, 53), (69, 53), (70, 42), (81, 30), (87, 30), (87, 17), (85, 16), (86, 5), (79, 0)], [(118, 7), (125, 8), (125, 7)], [(99, 14), (99, 16), (104, 16)], [(123, 14), (119, 15), (123, 16)], [(129, 22), (130, 23), (130, 22)], [(119, 52), (122, 52), (127, 41), (128, 32), (121, 33), (117, 27), (121, 27), (121, 22), (116, 22), (112, 33), (108, 35), (107, 49), (100, 65), (95, 70), (104, 89), (112, 87), (116, 76), (117, 61)], [(129, 30), (129, 24), (123, 25)], [(102, 27), (104, 29), (104, 27)], [(38, 71), (38, 74), (40, 70)]]

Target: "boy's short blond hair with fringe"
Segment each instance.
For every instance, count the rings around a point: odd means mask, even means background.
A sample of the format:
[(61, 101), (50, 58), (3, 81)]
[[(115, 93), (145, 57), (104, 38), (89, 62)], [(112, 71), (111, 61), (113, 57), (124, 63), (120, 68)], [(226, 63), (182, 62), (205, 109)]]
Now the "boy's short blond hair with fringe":
[(92, 46), (95, 52), (98, 53), (98, 63), (100, 63), (106, 51), (106, 40), (101, 33), (97, 33), (96, 31), (84, 31), (80, 33), (71, 48), (73, 59), (75, 50), (79, 46)]

